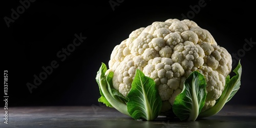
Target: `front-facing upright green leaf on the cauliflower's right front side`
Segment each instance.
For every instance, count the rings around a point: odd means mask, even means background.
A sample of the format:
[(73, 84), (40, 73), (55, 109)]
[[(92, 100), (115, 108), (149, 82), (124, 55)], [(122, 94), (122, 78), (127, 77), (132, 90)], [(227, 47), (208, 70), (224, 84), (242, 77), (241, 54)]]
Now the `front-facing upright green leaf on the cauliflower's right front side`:
[(185, 80), (182, 92), (176, 96), (173, 112), (180, 120), (195, 121), (204, 106), (205, 98), (205, 78), (194, 71)]

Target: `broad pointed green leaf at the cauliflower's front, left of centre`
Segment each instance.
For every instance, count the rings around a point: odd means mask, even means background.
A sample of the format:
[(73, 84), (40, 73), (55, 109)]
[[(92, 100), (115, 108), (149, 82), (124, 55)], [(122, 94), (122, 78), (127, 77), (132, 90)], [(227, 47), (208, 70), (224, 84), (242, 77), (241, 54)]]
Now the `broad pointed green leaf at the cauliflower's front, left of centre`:
[(162, 108), (162, 99), (156, 83), (140, 70), (136, 70), (131, 91), (127, 94), (127, 111), (134, 119), (154, 120)]

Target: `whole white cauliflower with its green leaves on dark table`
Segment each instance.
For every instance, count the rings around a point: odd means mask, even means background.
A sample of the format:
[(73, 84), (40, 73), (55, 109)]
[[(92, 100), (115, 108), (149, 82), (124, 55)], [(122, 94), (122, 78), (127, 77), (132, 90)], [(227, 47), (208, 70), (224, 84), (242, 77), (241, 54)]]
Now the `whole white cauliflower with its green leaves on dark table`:
[(134, 119), (195, 121), (218, 113), (240, 88), (242, 66), (189, 19), (141, 27), (116, 45), (96, 81), (99, 102)]

